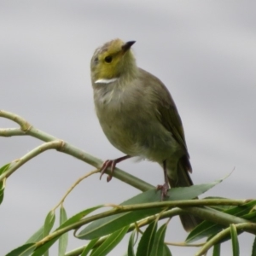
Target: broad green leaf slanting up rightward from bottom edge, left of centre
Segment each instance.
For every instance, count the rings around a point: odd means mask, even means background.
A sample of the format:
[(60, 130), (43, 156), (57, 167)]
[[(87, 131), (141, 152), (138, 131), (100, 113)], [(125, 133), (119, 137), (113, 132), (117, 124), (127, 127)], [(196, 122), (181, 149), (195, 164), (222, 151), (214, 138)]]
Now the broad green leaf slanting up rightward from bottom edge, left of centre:
[(113, 234), (109, 235), (108, 238), (105, 241), (103, 241), (99, 247), (92, 251), (90, 256), (108, 255), (108, 253), (111, 252), (112, 249), (119, 244), (119, 241), (123, 239), (128, 230), (129, 226), (126, 226), (121, 230), (113, 232)]

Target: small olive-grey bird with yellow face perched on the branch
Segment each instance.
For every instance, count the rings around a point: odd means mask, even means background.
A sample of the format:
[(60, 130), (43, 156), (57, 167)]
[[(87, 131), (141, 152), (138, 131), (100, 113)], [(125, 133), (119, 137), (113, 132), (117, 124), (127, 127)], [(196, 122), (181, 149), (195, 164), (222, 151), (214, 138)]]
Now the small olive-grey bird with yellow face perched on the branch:
[[(106, 160), (111, 173), (117, 163), (131, 157), (154, 161), (162, 166), (165, 183), (158, 186), (161, 198), (171, 188), (193, 185), (192, 167), (182, 120), (165, 84), (137, 67), (131, 46), (136, 41), (113, 39), (97, 48), (90, 61), (96, 115), (108, 141), (125, 155)], [(101, 177), (102, 177), (101, 174)], [(201, 222), (190, 214), (180, 216), (190, 231)]]

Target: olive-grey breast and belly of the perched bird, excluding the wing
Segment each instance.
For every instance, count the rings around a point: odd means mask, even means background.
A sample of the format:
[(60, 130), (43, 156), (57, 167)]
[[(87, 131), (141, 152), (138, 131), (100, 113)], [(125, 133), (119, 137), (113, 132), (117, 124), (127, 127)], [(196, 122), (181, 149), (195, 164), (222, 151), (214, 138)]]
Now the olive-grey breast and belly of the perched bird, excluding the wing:
[(95, 91), (96, 113), (110, 143), (125, 154), (160, 161), (175, 147), (143, 91)]

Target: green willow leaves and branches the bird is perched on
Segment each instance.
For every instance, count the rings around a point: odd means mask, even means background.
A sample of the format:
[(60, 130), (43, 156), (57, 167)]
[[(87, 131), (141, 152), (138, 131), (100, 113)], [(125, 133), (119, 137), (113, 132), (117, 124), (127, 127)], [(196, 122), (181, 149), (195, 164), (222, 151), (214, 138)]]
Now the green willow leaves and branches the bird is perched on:
[[(42, 145), (32, 151), (0, 168), (0, 204), (3, 201), (6, 179), (38, 154), (51, 148), (63, 153), (73, 155), (79, 160), (99, 168), (102, 161), (96, 157), (86, 154), (79, 148), (64, 143), (44, 131), (39, 131), (30, 125), (25, 119), (14, 113), (0, 111), (0, 117), (11, 119), (20, 125), (20, 128), (0, 129), (1, 137), (32, 136), (44, 141)], [(119, 244), (124, 236), (130, 236), (127, 245), (127, 256), (170, 256), (172, 243), (166, 242), (166, 229), (170, 218), (175, 215), (189, 212), (204, 221), (192, 230), (186, 241), (180, 246), (200, 246), (195, 255), (204, 255), (212, 247), (212, 255), (221, 253), (221, 244), (230, 240), (233, 255), (239, 255), (238, 236), (242, 232), (256, 234), (256, 201), (254, 200), (231, 200), (224, 198), (205, 198), (193, 200), (208, 189), (220, 183), (223, 179), (213, 183), (194, 185), (189, 188), (176, 188), (169, 190), (165, 201), (160, 201), (160, 191), (137, 177), (131, 177), (118, 168), (113, 176), (119, 178), (131, 186), (141, 189), (143, 193), (136, 195), (118, 206), (111, 206), (111, 210), (91, 215), (99, 208), (96, 206), (84, 209), (71, 218), (67, 218), (64, 201), (73, 188), (84, 178), (99, 172), (98, 169), (80, 177), (71, 189), (62, 197), (61, 201), (49, 211), (45, 217), (44, 225), (33, 234), (25, 244), (15, 248), (7, 256), (17, 255), (49, 255), (49, 248), (59, 242), (59, 256), (108, 255), (113, 248)], [(109, 173), (109, 171), (108, 171)], [(109, 205), (108, 205), (109, 207)], [(56, 209), (60, 209), (60, 224), (53, 230), (55, 224)], [(90, 214), (90, 216), (88, 216)], [(159, 220), (165, 219), (165, 224), (159, 227)], [(146, 227), (144, 231), (142, 227)], [(66, 252), (68, 237), (67, 233), (74, 230), (77, 239), (87, 240), (84, 247), (79, 247), (71, 252)], [(195, 241), (205, 239), (205, 242), (198, 245)], [(252, 246), (252, 255), (256, 255), (255, 241)], [(176, 244), (177, 245), (177, 244)], [(181, 249), (182, 250), (182, 249)]]

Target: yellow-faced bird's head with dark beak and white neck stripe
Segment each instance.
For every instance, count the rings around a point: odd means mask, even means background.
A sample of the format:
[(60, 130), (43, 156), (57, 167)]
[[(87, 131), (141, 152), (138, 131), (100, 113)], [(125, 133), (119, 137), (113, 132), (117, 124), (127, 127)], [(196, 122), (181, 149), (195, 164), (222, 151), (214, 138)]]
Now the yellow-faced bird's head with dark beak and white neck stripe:
[(131, 45), (135, 41), (124, 43), (114, 39), (96, 49), (90, 61), (91, 79), (96, 84), (108, 84), (121, 77), (132, 76), (137, 71)]

